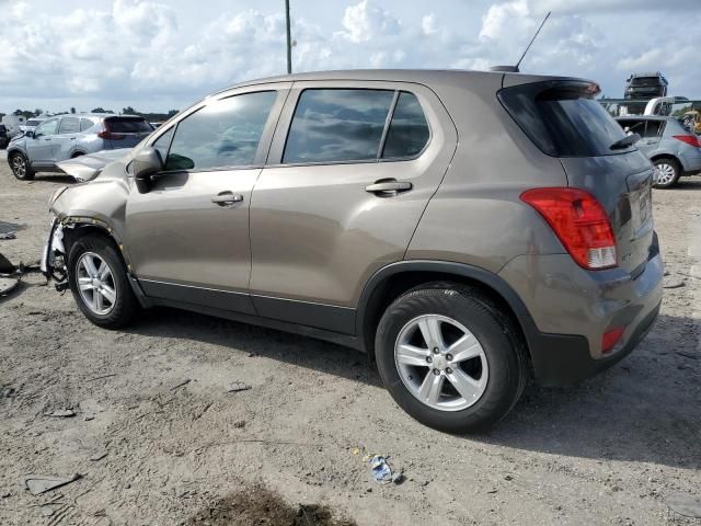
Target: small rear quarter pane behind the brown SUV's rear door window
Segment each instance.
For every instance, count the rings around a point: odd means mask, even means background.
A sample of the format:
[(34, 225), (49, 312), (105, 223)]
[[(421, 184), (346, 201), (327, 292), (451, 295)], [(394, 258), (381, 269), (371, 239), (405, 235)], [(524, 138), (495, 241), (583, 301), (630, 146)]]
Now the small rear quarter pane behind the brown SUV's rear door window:
[(387, 132), (382, 158), (414, 157), (428, 141), (428, 123), (415, 95), (402, 92)]

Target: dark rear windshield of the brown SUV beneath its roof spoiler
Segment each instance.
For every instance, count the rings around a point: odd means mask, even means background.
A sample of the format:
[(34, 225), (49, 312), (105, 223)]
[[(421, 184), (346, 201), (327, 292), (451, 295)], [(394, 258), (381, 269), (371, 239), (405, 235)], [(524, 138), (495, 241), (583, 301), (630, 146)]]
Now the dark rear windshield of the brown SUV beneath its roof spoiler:
[(625, 134), (594, 100), (589, 82), (551, 81), (505, 88), (498, 98), (538, 148), (553, 157), (598, 157), (630, 151), (611, 149)]

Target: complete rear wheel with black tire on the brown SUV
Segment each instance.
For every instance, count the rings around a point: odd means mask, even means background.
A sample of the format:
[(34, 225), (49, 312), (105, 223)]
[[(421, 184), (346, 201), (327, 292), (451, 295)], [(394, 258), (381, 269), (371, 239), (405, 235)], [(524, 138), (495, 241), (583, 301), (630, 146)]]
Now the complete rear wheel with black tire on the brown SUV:
[[(445, 342), (438, 354), (423, 335), (425, 330), (435, 334), (432, 327)], [(382, 316), (375, 340), (378, 370), (394, 401), (421, 423), (448, 433), (483, 430), (512, 410), (526, 385), (526, 351), (508, 317), (478, 290), (453, 283), (422, 285)], [(457, 353), (459, 347), (450, 345), (462, 336), (460, 355), (475, 356), (460, 361), (449, 350)], [(427, 379), (441, 386), (425, 389)], [(436, 391), (438, 398), (432, 397)]]

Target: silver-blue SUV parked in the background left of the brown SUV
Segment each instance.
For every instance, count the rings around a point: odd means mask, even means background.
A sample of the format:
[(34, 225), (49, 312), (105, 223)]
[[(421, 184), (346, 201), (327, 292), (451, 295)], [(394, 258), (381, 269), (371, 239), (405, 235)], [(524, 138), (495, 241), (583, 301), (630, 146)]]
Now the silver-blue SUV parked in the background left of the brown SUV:
[(50, 117), (34, 130), (13, 138), (8, 162), (15, 178), (27, 181), (36, 172), (60, 172), (57, 162), (113, 148), (131, 148), (153, 128), (134, 115), (80, 114)]

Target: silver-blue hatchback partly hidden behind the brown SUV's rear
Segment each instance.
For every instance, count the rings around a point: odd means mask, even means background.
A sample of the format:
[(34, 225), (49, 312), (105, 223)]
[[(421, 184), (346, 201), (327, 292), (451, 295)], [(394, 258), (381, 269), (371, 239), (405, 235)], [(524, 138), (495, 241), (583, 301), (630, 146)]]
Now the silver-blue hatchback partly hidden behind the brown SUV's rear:
[(635, 146), (655, 165), (655, 187), (669, 188), (682, 175), (701, 173), (701, 141), (675, 117), (636, 115), (617, 121), (624, 132), (641, 136)]

